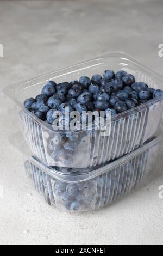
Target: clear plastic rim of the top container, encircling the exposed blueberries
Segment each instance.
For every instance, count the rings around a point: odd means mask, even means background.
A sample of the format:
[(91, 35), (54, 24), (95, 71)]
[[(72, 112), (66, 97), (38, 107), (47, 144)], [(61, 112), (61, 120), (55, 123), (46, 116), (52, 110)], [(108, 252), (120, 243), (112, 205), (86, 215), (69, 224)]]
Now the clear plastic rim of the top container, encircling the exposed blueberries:
[[(124, 52), (121, 52), (121, 51), (112, 51), (112, 52), (105, 52), (105, 53), (102, 53), (100, 56), (97, 56), (95, 58), (91, 58), (89, 60), (86, 60), (85, 62), (82, 62), (82, 63), (77, 63), (77, 64), (74, 64), (74, 65), (71, 65), (71, 66), (67, 66), (66, 68), (63, 68), (63, 69), (59, 69), (59, 70), (56, 70), (56, 71), (52, 71), (52, 72), (49, 72), (49, 73), (45, 73), (45, 74), (41, 74), (41, 75), (37, 75), (35, 77), (30, 77), (28, 78), (27, 80), (21, 80), (21, 81), (17, 81), (17, 82), (14, 82), (14, 83), (10, 83), (8, 84), (7, 86), (5, 86), (3, 88), (3, 92), (5, 95), (7, 95), (8, 97), (10, 97), (11, 100), (13, 100), (17, 106), (19, 106), (24, 112), (26, 112), (26, 114), (29, 115), (30, 118), (32, 118), (37, 124), (41, 125), (42, 127), (44, 127), (46, 130), (49, 130), (49, 131), (53, 131), (54, 133), (56, 132), (60, 132), (60, 133), (78, 133), (78, 132), (83, 132), (83, 130), (75, 130), (75, 131), (55, 131), (54, 129), (52, 129), (52, 125), (51, 124), (48, 124), (48, 123), (45, 123), (45, 121), (42, 121), (41, 119), (37, 118), (33, 113), (29, 112), (26, 108), (24, 108), (24, 106), (22, 105), (22, 103), (20, 101), (17, 100), (16, 98), (16, 91), (19, 87), (22, 86), (22, 84), (27, 84), (27, 87), (28, 87), (28, 83), (29, 82), (32, 82), (38, 78), (41, 78), (41, 77), (45, 77), (45, 76), (49, 76), (49, 75), (55, 75), (57, 73), (61, 73), (68, 70), (68, 69), (72, 69), (72, 68), (76, 68), (79, 66), (79, 65), (86, 65), (87, 63), (90, 63), (92, 61), (97, 61), (97, 60), (102, 60), (102, 59), (105, 59), (105, 58), (120, 58), (120, 59), (123, 59), (123, 60), (127, 60), (129, 61), (130, 63), (133, 63), (133, 64), (136, 64), (137, 66), (139, 66), (139, 68), (143, 71), (143, 72), (151, 72), (151, 75), (154, 76), (157, 80), (160, 80), (160, 83), (163, 84), (163, 77), (160, 76), (159, 74), (157, 74), (156, 72), (154, 72), (153, 70), (151, 69), (148, 69), (146, 68), (146, 66), (143, 66), (141, 63), (137, 62), (137, 60), (135, 60), (133, 57), (131, 57), (129, 54), (127, 53), (124, 53)], [(71, 71), (71, 72), (74, 72)], [(67, 71), (67, 74), (69, 74), (70, 71), (68, 72)], [(57, 75), (56, 77), (54, 78), (57, 78), (57, 77), (60, 77), (60, 75)], [(63, 75), (63, 74), (62, 74)], [(26, 88), (25, 88), (26, 89)], [(159, 97), (158, 99), (153, 99), (153, 100), (149, 100), (147, 103), (141, 105), (141, 106), (137, 106), (133, 109), (128, 109), (127, 111), (123, 112), (123, 113), (118, 113), (116, 115), (114, 115), (113, 117), (111, 117), (111, 121), (117, 121), (117, 120), (120, 120), (121, 118), (126, 118), (128, 117), (129, 115), (132, 115), (132, 114), (135, 114), (137, 112), (140, 112), (142, 111), (143, 109), (146, 109), (147, 107), (150, 107), (152, 105), (154, 105), (154, 103), (156, 102), (159, 102), (163, 100), (163, 96), (162, 97)], [(86, 127), (89, 127), (86, 126)]]

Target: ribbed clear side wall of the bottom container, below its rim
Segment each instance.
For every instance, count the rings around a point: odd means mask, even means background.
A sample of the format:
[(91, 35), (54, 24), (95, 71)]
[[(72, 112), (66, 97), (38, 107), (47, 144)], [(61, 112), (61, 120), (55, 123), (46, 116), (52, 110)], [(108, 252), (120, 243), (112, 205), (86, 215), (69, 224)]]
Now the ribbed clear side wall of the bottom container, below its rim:
[(120, 166), (105, 174), (76, 184), (55, 180), (32, 162), (26, 161), (25, 167), (36, 190), (42, 194), (46, 203), (63, 211), (97, 210), (126, 196), (132, 188), (140, 184), (146, 170), (149, 170), (149, 150), (126, 163), (122, 162)]

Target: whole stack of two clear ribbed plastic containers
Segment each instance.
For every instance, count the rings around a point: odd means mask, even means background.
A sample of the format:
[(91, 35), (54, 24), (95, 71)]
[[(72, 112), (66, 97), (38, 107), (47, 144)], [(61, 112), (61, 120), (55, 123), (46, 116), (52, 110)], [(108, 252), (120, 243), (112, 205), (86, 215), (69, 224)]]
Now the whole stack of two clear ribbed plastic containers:
[[(124, 53), (112, 52), (104, 57), (71, 66), (29, 81), (14, 83), (5, 93), (17, 103), (22, 134), (10, 138), (24, 153), (27, 176), (48, 204), (64, 211), (87, 211), (102, 208), (128, 194), (152, 170), (162, 136), (153, 137), (160, 127), (163, 98), (112, 117), (110, 135), (102, 131), (78, 131), (78, 148), (62, 147), (66, 133), (37, 119), (24, 109), (23, 102), (40, 94), (49, 80), (56, 83), (91, 77), (106, 69), (124, 70), (136, 81), (149, 87), (162, 87), (162, 78), (141, 66)], [(59, 145), (60, 154), (57, 155)], [(51, 147), (52, 146), (52, 147)], [(28, 150), (28, 148), (30, 150)]]

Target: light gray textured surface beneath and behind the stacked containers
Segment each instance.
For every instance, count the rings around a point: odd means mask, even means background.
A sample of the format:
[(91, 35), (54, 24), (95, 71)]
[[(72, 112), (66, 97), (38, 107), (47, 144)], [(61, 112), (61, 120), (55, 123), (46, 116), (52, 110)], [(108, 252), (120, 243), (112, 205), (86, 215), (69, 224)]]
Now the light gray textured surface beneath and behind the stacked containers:
[[(0, 1), (0, 244), (163, 244), (161, 176), (110, 208), (84, 214), (55, 211), (26, 181), (8, 82), (121, 50), (161, 74), (162, 0)], [(162, 171), (161, 157), (155, 173)]]

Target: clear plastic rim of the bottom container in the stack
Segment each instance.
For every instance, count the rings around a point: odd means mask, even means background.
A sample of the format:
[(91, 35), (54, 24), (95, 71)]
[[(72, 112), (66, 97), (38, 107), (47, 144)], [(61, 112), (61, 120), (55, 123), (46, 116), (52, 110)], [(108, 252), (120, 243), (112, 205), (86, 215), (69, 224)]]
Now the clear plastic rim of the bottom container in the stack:
[[(98, 175), (102, 175), (106, 172), (111, 172), (112, 169), (117, 168), (118, 166), (125, 164), (129, 160), (133, 159), (134, 157), (140, 155), (141, 153), (145, 152), (149, 148), (152, 148), (154, 145), (159, 144), (163, 140), (163, 135), (159, 135), (158, 137), (153, 137), (150, 142), (147, 142), (142, 145), (142, 147), (135, 149), (131, 153), (120, 157), (119, 159), (112, 161), (108, 164), (105, 164), (102, 167), (99, 167), (95, 170), (92, 170), (87, 173), (77, 173), (77, 174), (67, 174), (61, 173), (58, 170), (47, 166), (46, 164), (40, 163), (40, 161), (36, 160), (33, 154), (29, 151), (28, 145), (26, 143), (24, 149), (24, 139), (21, 132), (14, 133), (13, 135), (9, 136), (9, 142), (17, 148), (23, 155), (27, 157), (27, 159), (32, 162), (36, 167), (43, 170), (43, 172), (47, 173), (48, 175), (52, 176), (54, 179), (58, 179), (63, 182), (67, 183), (78, 183), (90, 180), (92, 178), (96, 178)], [(30, 152), (30, 153), (29, 153)], [(79, 169), (79, 168), (78, 168)], [(82, 169), (82, 168), (81, 168)], [(89, 169), (89, 168), (88, 168)], [(76, 180), (74, 180), (76, 179)]]

